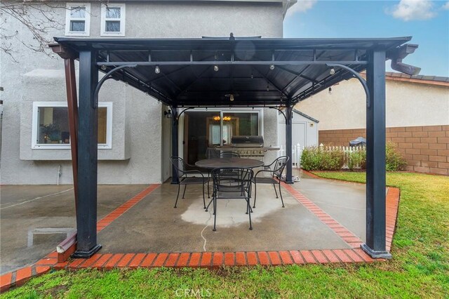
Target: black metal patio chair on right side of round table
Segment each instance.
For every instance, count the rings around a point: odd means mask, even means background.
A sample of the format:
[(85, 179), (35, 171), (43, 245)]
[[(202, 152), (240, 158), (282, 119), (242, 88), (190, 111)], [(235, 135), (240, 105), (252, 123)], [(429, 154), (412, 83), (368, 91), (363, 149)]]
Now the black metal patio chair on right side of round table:
[[(283, 204), (283, 199), (282, 199), (282, 193), (281, 193), (281, 177), (282, 177), (282, 173), (283, 173), (283, 168), (286, 167), (286, 164), (288, 162), (288, 157), (287, 156), (282, 156), (277, 158), (276, 160), (274, 160), (272, 162), (272, 164), (269, 165), (265, 165), (264, 169), (257, 171), (257, 173), (255, 173), (254, 178), (253, 178), (253, 183), (254, 183), (254, 203), (253, 203), (253, 208), (255, 208), (255, 199), (257, 196), (257, 184), (272, 184), (274, 187), (274, 192), (276, 193), (276, 199), (278, 199), (278, 192), (276, 192), (276, 184), (279, 186), (279, 195), (281, 195), (281, 202), (282, 202), (282, 207), (285, 208), (284, 204)], [(273, 166), (273, 169), (272, 169)], [(263, 176), (263, 174), (267, 174), (269, 173), (269, 177), (267, 176)]]

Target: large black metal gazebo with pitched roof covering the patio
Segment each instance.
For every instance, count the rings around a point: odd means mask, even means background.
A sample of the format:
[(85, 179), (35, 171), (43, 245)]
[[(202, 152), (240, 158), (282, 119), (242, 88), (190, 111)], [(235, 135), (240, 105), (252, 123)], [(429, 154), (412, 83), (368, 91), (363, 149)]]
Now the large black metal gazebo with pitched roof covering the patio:
[[(403, 64), (417, 45), (411, 37), (381, 39), (71, 39), (51, 48), (65, 59), (76, 198), (77, 248), (89, 258), (97, 241), (97, 107), (107, 79), (126, 82), (171, 107), (172, 155), (178, 155), (180, 114), (195, 107), (268, 107), (286, 119), (286, 182), (292, 180), (292, 111), (297, 102), (355, 77), (366, 92), (366, 244), (373, 258), (385, 246), (385, 61)], [(79, 104), (74, 60), (79, 60)], [(359, 72), (366, 70), (366, 80)], [(105, 76), (98, 80), (98, 72)]]

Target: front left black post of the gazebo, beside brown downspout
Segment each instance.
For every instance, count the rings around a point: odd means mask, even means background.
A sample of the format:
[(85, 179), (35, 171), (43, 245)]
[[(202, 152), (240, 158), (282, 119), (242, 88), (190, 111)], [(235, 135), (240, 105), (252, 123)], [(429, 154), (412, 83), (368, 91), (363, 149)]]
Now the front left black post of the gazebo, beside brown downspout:
[(97, 244), (98, 110), (95, 51), (79, 52), (78, 203), (74, 258), (90, 258)]

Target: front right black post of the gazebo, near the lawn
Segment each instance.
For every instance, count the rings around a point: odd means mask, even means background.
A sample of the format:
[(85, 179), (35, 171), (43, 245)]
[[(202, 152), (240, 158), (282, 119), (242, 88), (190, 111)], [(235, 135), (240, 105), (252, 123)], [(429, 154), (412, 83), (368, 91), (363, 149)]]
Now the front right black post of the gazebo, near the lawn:
[(370, 102), (366, 108), (366, 244), (373, 258), (391, 258), (385, 247), (385, 51), (368, 52), (366, 79)]

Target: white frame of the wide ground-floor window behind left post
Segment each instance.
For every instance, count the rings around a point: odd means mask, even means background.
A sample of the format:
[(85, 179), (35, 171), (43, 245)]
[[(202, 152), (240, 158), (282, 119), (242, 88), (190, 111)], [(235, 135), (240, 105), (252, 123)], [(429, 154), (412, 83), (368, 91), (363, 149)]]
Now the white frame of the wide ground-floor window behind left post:
[[(33, 115), (32, 115), (32, 141), (31, 148), (33, 150), (69, 150), (70, 144), (52, 143), (41, 144), (37, 143), (37, 134), (39, 131), (38, 124), (38, 111), (40, 107), (66, 107), (67, 102), (33, 102)], [(98, 145), (99, 150), (111, 150), (112, 149), (112, 102), (98, 102), (98, 107), (106, 107), (106, 143)], [(69, 121), (67, 117), (67, 122)]]

